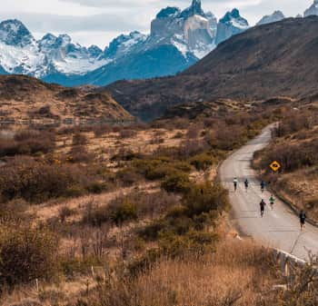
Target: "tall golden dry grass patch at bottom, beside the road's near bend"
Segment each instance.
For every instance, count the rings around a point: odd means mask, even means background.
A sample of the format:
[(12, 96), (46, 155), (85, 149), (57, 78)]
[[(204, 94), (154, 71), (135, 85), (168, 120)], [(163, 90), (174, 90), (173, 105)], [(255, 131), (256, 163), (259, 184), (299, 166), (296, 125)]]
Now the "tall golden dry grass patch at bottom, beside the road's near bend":
[(270, 251), (231, 240), (199, 259), (158, 262), (137, 279), (114, 285), (113, 294), (100, 288), (89, 301), (96, 306), (252, 306), (276, 281), (273, 269)]

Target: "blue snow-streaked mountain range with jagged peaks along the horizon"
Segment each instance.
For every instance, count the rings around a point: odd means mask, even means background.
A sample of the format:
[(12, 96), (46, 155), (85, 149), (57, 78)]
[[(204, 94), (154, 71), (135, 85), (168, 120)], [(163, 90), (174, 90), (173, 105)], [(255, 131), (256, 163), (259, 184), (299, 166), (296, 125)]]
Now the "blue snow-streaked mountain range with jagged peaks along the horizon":
[[(317, 0), (305, 15), (315, 15)], [(258, 25), (280, 21), (282, 12), (266, 15)], [(0, 24), (0, 74), (26, 74), (66, 86), (110, 84), (177, 74), (195, 64), (232, 35), (249, 28), (237, 9), (217, 21), (200, 0), (181, 10), (168, 6), (151, 24), (149, 35), (119, 35), (105, 47), (75, 44), (69, 35), (47, 34), (40, 40), (19, 20)]]

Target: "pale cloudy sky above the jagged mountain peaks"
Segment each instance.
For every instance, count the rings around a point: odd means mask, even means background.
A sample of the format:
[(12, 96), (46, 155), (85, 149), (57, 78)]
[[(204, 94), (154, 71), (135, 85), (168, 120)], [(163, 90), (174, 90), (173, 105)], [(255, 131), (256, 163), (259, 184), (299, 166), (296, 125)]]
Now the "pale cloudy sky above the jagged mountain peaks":
[[(189, 6), (192, 0), (1, 0), (0, 19), (20, 19), (36, 38), (67, 33), (80, 44), (104, 48), (112, 38), (138, 30), (149, 32), (154, 15), (165, 6)], [(313, 0), (202, 0), (204, 11), (218, 18), (234, 7), (254, 25), (280, 9), (294, 16)]]

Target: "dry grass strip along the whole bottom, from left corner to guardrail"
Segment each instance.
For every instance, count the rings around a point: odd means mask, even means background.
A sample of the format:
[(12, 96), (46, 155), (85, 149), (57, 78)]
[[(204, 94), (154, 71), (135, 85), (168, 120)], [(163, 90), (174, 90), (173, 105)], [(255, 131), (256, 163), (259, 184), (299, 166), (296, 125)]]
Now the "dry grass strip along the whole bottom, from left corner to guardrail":
[(47, 306), (79, 305), (76, 300), (94, 306), (253, 306), (277, 281), (274, 268), (270, 251), (232, 239), (200, 259), (162, 260), (131, 281), (111, 276), (112, 281), (104, 285), (92, 277), (78, 278), (58, 285), (40, 283), (40, 292), (34, 284), (18, 288), (1, 304), (25, 305), (32, 299)]

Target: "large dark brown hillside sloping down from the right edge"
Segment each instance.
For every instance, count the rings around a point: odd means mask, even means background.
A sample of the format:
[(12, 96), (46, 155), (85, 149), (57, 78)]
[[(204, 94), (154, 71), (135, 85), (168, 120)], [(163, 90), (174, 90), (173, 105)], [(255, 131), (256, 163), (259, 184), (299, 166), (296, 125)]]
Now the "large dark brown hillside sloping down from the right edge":
[(217, 98), (304, 98), (318, 92), (317, 54), (318, 17), (285, 19), (235, 35), (183, 74), (117, 82), (106, 90), (144, 120), (174, 104)]

